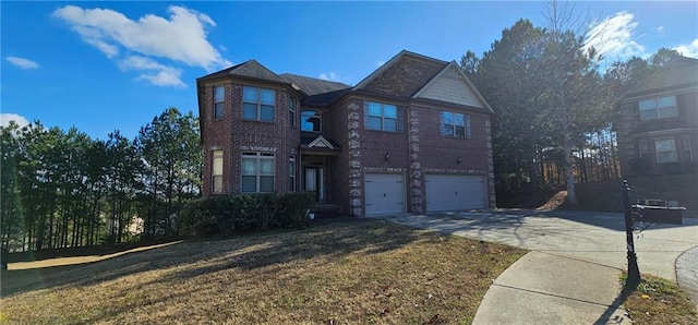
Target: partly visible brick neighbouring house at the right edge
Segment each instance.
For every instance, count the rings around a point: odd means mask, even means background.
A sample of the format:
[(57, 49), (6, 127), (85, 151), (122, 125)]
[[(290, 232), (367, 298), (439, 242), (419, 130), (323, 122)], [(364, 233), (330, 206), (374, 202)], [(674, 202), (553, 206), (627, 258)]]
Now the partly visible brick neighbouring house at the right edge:
[(698, 172), (698, 60), (672, 60), (621, 101), (624, 176)]

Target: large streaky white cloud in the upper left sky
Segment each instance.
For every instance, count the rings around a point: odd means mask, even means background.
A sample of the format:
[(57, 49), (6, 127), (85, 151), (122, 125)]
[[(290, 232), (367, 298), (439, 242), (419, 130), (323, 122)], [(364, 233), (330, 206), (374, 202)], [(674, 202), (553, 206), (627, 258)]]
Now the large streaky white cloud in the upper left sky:
[(117, 60), (122, 70), (145, 71), (139, 77), (154, 85), (184, 86), (180, 69), (156, 60), (208, 72), (232, 65), (206, 38), (206, 29), (216, 26), (208, 15), (177, 5), (169, 7), (168, 13), (169, 17), (146, 14), (131, 20), (110, 9), (65, 5), (52, 15), (67, 22), (83, 41)]

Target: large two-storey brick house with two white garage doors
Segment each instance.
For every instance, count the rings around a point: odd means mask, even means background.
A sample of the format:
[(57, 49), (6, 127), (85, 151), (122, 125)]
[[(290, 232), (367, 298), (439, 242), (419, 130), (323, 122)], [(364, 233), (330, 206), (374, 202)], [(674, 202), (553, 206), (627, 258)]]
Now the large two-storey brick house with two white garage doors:
[(455, 61), (401, 51), (352, 87), (250, 60), (196, 86), (204, 196), (314, 191), (349, 216), (495, 205), (493, 110)]

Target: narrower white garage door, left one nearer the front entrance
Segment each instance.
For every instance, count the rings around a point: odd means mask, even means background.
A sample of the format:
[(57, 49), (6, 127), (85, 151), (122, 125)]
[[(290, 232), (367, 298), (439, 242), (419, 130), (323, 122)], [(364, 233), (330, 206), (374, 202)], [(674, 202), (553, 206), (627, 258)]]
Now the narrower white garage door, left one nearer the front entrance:
[(366, 215), (405, 212), (405, 181), (399, 173), (366, 173)]

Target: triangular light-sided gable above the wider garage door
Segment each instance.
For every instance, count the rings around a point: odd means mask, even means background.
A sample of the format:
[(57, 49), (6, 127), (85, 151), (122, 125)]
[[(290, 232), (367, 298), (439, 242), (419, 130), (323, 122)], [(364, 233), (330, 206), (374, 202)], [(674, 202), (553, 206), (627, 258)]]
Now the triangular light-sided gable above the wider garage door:
[[(436, 92), (432, 92), (435, 86), (440, 88), (449, 88), (448, 86), (452, 86), (452, 89), (446, 89), (452, 91), (447, 92), (447, 95), (450, 96), (446, 97), (444, 94), (436, 94)], [(421, 89), (419, 89), (412, 98), (442, 100), (452, 104), (482, 108), (489, 112), (494, 112), (492, 107), (490, 107), (490, 104), (488, 104), (488, 101), (484, 100), (484, 97), (480, 95), (480, 92), (478, 92), (476, 86), (470, 82), (456, 61), (452, 61), (448, 65), (444, 67), (444, 69), (432, 77), (432, 80), (430, 80)]]

